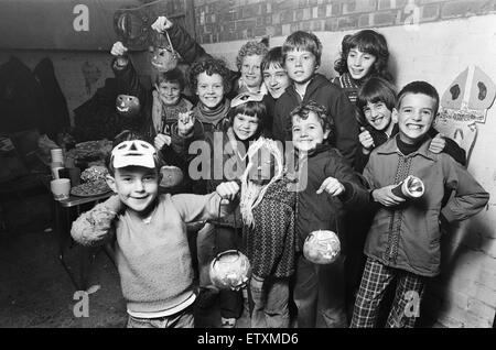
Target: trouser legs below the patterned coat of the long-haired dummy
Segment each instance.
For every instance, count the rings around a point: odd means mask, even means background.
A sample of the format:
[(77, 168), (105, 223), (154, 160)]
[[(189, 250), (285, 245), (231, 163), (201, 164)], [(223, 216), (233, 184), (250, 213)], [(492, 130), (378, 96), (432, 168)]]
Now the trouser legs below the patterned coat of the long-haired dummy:
[(252, 275), (250, 295), (254, 302), (251, 328), (289, 327), (289, 278), (261, 280)]

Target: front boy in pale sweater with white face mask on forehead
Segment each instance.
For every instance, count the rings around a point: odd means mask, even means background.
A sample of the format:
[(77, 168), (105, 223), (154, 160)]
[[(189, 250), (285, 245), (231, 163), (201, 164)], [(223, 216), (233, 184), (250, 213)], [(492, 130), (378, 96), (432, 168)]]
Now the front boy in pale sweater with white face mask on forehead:
[[(114, 147), (107, 183), (117, 194), (83, 214), (71, 230), (84, 245), (115, 241), (116, 264), (129, 314), (128, 327), (194, 327), (196, 295), (186, 223), (218, 218), (239, 186), (222, 183), (216, 193), (159, 195), (160, 157), (148, 142)], [(220, 209), (219, 209), (220, 206)]]

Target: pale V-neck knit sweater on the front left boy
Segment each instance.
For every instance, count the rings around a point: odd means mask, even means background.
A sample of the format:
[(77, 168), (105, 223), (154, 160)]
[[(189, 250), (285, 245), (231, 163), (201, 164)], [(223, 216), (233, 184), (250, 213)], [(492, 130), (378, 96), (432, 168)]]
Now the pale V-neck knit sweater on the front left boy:
[[(158, 313), (176, 307), (193, 293), (193, 269), (186, 222), (214, 219), (216, 194), (161, 195), (150, 223), (112, 196), (83, 214), (72, 227), (73, 238), (85, 245), (116, 238), (116, 263), (128, 310)], [(231, 210), (222, 206), (220, 216)], [(117, 214), (119, 212), (119, 214)]]

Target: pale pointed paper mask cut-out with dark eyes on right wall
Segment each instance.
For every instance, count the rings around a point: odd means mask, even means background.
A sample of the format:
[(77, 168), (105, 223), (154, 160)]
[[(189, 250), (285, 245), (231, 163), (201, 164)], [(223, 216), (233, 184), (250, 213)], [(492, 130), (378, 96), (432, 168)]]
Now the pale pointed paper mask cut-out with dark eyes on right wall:
[(495, 96), (495, 84), (477, 66), (463, 70), (443, 94), (434, 128), (465, 150), (467, 164), (477, 139), (477, 123), (486, 122)]

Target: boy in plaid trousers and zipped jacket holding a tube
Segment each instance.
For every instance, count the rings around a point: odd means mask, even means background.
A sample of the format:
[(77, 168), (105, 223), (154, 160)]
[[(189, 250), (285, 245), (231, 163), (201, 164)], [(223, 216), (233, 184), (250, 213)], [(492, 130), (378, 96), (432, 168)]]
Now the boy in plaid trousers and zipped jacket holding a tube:
[[(386, 287), (397, 280), (387, 327), (413, 327), (417, 315), (405, 313), (416, 293), (420, 303), (428, 277), (440, 272), (440, 226), (465, 220), (487, 204), (489, 195), (450, 155), (429, 151), (429, 130), (438, 112), (439, 95), (425, 81), (413, 81), (398, 95), (392, 118), (399, 133), (375, 149), (364, 171), (370, 199), (380, 206), (364, 252), (365, 271), (351, 327), (375, 327)], [(391, 189), (409, 175), (424, 185), (423, 196), (405, 199)], [(445, 192), (453, 190), (443, 207)]]

